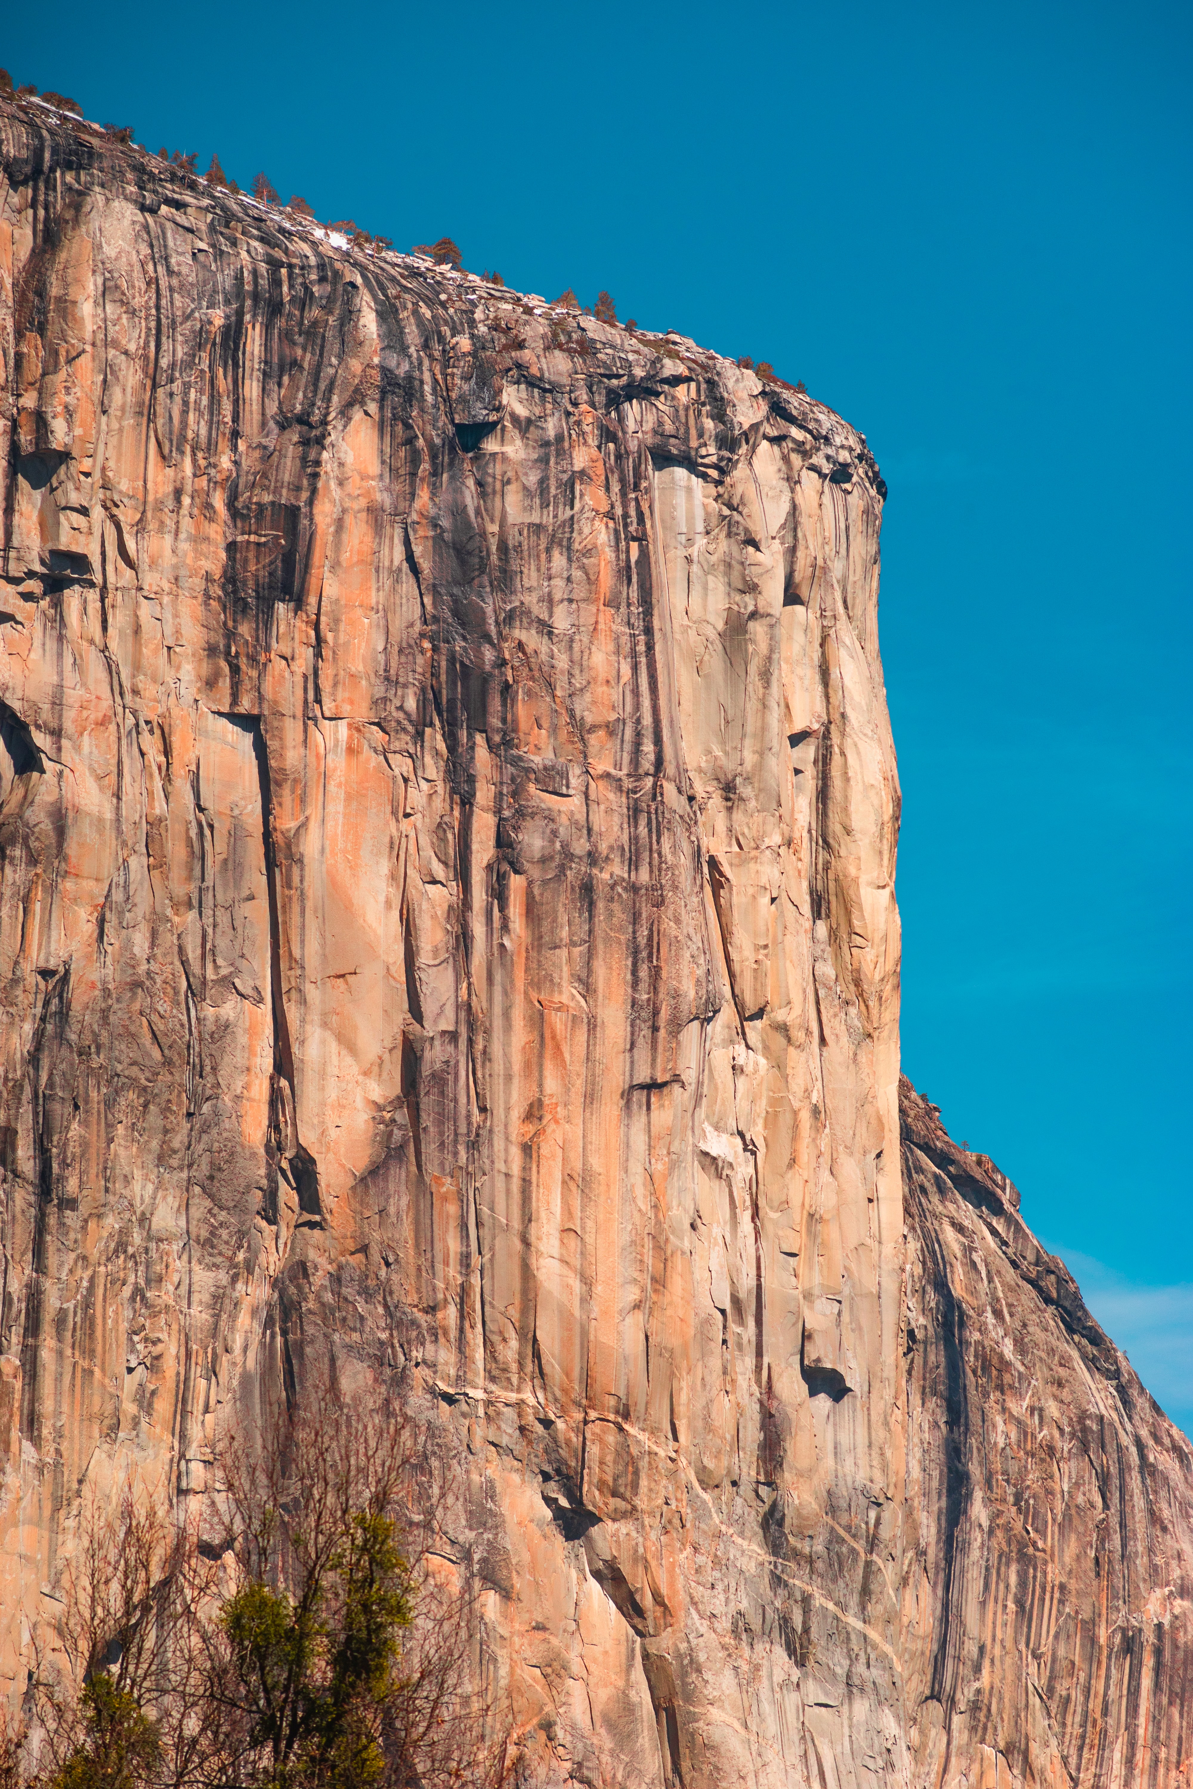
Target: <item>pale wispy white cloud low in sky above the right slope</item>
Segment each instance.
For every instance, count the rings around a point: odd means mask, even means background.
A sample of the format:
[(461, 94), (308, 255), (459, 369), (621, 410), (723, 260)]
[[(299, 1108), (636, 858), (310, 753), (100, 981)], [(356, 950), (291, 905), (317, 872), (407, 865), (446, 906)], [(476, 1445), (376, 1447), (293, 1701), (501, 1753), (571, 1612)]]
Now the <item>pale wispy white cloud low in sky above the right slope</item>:
[(1061, 1256), (1155, 1403), (1193, 1438), (1193, 1285), (1143, 1286), (1080, 1249), (1045, 1247)]

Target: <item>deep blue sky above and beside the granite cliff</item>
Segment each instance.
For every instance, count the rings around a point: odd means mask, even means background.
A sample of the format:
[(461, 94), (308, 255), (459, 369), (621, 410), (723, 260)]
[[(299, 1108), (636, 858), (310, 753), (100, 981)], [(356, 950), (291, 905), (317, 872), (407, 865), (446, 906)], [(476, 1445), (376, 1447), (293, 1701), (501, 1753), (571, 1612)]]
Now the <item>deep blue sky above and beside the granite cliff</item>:
[(1191, 21), (66, 0), (0, 61), (399, 247), (606, 286), (866, 431), (905, 1068), (1193, 1429)]

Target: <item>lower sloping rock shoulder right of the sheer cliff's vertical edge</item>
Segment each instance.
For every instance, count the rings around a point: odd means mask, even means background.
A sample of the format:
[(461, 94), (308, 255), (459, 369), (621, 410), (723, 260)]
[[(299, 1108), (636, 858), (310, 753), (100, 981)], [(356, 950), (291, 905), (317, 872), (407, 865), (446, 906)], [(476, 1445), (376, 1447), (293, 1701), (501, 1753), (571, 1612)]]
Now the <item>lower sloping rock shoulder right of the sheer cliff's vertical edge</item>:
[(916, 1784), (1193, 1780), (1193, 1447), (901, 1084)]

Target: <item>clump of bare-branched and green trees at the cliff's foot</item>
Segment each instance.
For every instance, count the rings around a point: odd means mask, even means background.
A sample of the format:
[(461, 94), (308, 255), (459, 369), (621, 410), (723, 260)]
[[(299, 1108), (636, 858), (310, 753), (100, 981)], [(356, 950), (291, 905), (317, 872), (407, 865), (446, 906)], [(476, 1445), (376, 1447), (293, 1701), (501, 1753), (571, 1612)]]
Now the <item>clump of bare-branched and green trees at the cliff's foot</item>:
[[(476, 1608), (436, 1578), (393, 1415), (281, 1419), (182, 1522), (91, 1506), (0, 1789), (499, 1789)], [(442, 1547), (442, 1540), (438, 1542)]]

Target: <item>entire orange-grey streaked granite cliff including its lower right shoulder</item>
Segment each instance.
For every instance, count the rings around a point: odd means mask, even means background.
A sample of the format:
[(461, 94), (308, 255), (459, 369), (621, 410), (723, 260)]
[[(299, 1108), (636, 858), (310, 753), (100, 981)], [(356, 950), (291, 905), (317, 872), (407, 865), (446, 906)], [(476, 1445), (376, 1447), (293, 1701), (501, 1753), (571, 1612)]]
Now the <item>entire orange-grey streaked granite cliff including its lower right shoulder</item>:
[(80, 1492), (331, 1363), (546, 1780), (1184, 1782), (1189, 1447), (914, 1095), (900, 1165), (864, 440), (2, 131), (16, 1687)]

